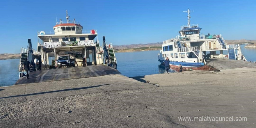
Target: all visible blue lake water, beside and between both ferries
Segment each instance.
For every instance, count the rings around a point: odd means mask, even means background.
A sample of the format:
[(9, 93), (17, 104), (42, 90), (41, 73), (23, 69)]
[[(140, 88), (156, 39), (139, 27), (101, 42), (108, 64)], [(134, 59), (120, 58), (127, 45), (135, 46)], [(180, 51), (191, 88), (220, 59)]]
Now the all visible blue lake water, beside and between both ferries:
[[(256, 49), (242, 46), (246, 59), (256, 61)], [(166, 72), (164, 67), (157, 61), (158, 53), (159, 51), (115, 53), (118, 62), (117, 69), (127, 77), (164, 73)], [(0, 60), (0, 86), (13, 85), (19, 79), (18, 65), (19, 59)], [(170, 70), (170, 72), (175, 71)]]

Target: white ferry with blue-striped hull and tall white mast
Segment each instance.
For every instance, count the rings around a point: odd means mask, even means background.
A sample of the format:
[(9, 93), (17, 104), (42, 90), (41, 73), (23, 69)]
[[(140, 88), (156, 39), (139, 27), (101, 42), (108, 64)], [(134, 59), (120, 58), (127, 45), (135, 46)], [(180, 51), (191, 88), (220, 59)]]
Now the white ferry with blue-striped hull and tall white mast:
[[(158, 54), (158, 61), (163, 64), (168, 57), (170, 67), (179, 68), (179, 65), (192, 70), (207, 70), (207, 58), (228, 58), (236, 60), (235, 49), (237, 45), (227, 45), (222, 35), (201, 34), (202, 28), (198, 24), (190, 24), (190, 10), (188, 13), (188, 24), (181, 26), (175, 38), (163, 41), (162, 50)], [(228, 55), (223, 51), (228, 50)], [(209, 51), (209, 54), (206, 52)], [(219, 54), (216, 54), (219, 51)]]

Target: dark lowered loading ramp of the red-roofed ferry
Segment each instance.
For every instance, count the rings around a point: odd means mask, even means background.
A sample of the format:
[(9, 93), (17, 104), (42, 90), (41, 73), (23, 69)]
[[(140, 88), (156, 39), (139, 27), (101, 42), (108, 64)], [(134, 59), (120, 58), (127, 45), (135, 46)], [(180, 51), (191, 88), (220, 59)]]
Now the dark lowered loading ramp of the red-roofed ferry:
[(47, 69), (42, 71), (37, 70), (35, 72), (29, 73), (30, 79), (22, 77), (14, 85), (49, 81), (61, 81), (86, 77), (97, 77), (109, 74), (120, 74), (120, 72), (106, 65), (93, 65), (68, 68), (63, 67), (56, 69)]

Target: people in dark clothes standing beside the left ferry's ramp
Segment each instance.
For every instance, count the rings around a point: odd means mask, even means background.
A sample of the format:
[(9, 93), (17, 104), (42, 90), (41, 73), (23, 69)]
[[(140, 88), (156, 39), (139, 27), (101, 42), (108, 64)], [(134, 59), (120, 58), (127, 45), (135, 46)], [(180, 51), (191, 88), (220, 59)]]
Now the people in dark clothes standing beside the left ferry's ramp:
[[(42, 70), (41, 67), (42, 67), (42, 56), (40, 55), (38, 58), (37, 58), (37, 69), (38, 70)], [(29, 71), (32, 72), (31, 68), (32, 67), (32, 70), (35, 71), (35, 63), (34, 63), (34, 60), (31, 61), (31, 63), (28, 61), (28, 58), (26, 57), (25, 58), (25, 61), (23, 62), (23, 69), (26, 70), (26, 77), (27, 79), (29, 79)]]

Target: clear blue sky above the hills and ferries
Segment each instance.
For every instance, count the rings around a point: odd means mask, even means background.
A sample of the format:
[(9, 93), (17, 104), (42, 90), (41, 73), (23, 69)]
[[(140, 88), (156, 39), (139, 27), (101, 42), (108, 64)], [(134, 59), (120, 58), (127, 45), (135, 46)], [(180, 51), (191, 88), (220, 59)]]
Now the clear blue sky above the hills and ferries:
[[(224, 1), (224, 2), (223, 2)], [(57, 19), (76, 19), (83, 29), (97, 29), (113, 45), (162, 42), (178, 35), (187, 24), (199, 24), (201, 33), (222, 34), (226, 40), (256, 39), (254, 0), (6, 0), (1, 1), (0, 53), (19, 53), (31, 38), (37, 47), (37, 31), (52, 31)]]

